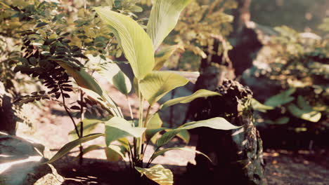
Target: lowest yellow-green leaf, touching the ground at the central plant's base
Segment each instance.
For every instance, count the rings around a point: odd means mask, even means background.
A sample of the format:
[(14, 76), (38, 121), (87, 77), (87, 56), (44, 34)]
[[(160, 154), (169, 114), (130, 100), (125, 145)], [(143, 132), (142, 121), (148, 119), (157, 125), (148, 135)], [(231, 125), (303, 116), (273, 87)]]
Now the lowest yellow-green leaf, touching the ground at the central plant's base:
[(162, 165), (154, 165), (150, 168), (135, 167), (135, 169), (145, 174), (148, 179), (155, 181), (160, 185), (172, 185), (174, 184), (174, 175), (169, 169), (165, 169)]

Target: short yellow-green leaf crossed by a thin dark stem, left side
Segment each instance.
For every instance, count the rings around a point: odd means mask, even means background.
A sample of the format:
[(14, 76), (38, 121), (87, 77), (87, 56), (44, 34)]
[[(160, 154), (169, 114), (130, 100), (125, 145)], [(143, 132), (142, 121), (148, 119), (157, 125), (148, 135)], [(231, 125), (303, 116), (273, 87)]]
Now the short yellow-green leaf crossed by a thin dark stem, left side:
[[(84, 125), (84, 135), (89, 135), (96, 127), (99, 123), (102, 123), (103, 121), (98, 120), (98, 119), (84, 119), (83, 121), (83, 125)], [(80, 133), (81, 130), (81, 121), (77, 124), (77, 130)], [(77, 136), (77, 132), (74, 130), (72, 130), (71, 132), (69, 132), (69, 137), (71, 140), (75, 140), (78, 139), (79, 137)]]

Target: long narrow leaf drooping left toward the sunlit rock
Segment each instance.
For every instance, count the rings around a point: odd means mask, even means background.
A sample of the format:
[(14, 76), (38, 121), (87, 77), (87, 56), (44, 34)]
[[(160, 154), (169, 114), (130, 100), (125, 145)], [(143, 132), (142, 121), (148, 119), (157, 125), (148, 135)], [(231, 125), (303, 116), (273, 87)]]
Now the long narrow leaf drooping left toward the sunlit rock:
[(58, 160), (59, 158), (65, 156), (65, 154), (69, 153), (72, 149), (79, 146), (84, 142), (89, 142), (90, 140), (96, 139), (97, 137), (101, 137), (104, 134), (91, 134), (86, 135), (84, 137), (80, 137), (77, 140), (69, 142), (65, 144), (50, 160), (46, 161), (46, 163), (53, 163), (54, 161)]

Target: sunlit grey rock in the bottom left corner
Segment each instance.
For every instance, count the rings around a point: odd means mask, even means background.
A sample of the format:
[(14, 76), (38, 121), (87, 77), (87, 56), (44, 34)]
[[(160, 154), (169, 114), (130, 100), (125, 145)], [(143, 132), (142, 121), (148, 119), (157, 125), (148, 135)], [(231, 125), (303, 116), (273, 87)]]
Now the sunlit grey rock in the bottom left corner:
[(0, 132), (1, 185), (59, 185), (64, 181), (42, 155), (44, 146)]

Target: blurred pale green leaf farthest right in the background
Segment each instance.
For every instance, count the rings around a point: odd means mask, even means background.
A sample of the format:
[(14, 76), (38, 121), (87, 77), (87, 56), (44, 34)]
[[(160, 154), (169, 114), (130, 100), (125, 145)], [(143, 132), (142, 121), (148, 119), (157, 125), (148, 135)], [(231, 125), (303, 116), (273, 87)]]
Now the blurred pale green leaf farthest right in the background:
[(313, 109), (300, 109), (295, 104), (288, 105), (288, 111), (297, 118), (301, 118), (311, 122), (318, 122), (321, 119), (321, 112), (314, 111)]

